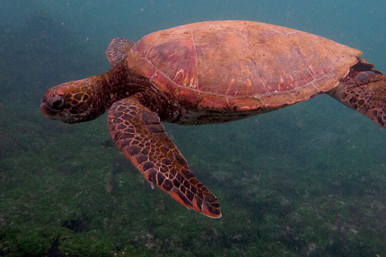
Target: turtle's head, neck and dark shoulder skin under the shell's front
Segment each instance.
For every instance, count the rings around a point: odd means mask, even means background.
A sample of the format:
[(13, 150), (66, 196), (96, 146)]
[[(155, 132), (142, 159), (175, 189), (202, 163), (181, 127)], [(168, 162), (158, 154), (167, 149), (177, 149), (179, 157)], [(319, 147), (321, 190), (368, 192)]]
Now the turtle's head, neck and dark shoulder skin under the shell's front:
[(124, 97), (136, 94), (143, 105), (159, 113), (162, 121), (175, 122), (181, 106), (148, 79), (131, 73), (121, 62), (107, 74), (69, 81), (47, 90), (41, 100), (43, 115), (66, 123), (99, 117)]

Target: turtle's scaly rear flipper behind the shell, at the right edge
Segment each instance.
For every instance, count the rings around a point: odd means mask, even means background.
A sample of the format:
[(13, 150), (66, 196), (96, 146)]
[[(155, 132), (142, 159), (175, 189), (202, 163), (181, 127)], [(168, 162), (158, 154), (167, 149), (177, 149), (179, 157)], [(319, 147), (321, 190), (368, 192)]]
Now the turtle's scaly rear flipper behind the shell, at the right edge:
[(386, 127), (386, 76), (359, 59), (338, 86), (327, 92), (344, 105)]

